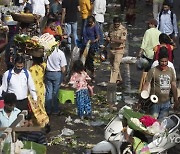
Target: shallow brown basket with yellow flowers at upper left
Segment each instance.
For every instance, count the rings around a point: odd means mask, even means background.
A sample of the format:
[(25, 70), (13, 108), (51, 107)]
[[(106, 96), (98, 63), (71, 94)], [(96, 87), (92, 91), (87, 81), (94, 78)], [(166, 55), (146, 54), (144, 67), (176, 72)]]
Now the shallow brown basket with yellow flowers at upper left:
[(23, 22), (23, 23), (35, 22), (35, 17), (28, 14), (11, 13), (11, 16), (14, 21)]

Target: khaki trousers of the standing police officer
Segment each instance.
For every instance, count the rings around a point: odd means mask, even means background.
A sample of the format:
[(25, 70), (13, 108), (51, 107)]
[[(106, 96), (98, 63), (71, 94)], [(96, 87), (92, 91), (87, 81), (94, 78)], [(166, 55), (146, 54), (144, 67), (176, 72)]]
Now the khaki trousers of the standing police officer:
[(112, 65), (110, 83), (116, 83), (117, 80), (122, 81), (120, 63), (124, 54), (123, 50), (110, 50), (109, 59)]

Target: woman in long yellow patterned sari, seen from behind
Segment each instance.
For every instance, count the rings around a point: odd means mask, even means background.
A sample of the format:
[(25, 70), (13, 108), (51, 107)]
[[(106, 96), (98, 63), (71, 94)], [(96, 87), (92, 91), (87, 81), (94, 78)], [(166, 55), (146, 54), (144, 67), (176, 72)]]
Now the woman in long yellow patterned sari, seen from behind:
[(49, 123), (49, 117), (45, 110), (45, 85), (44, 85), (44, 73), (46, 69), (46, 63), (43, 62), (42, 57), (33, 57), (33, 65), (30, 67), (29, 71), (33, 78), (37, 96), (37, 105), (33, 104), (32, 98), (29, 97), (32, 112), (34, 113), (37, 123), (41, 127), (45, 127)]

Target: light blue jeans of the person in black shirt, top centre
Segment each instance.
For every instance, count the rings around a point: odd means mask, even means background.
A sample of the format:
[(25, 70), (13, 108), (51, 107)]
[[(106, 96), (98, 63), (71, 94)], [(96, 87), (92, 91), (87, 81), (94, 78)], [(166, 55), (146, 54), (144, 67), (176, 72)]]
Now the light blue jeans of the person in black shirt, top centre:
[(74, 38), (74, 44), (75, 46), (77, 46), (77, 40), (78, 40), (78, 36), (77, 36), (77, 22), (69, 22), (65, 24), (65, 30), (66, 30), (66, 34), (68, 35), (68, 43), (70, 44), (70, 49), (71, 49), (71, 33), (73, 33), (73, 38)]

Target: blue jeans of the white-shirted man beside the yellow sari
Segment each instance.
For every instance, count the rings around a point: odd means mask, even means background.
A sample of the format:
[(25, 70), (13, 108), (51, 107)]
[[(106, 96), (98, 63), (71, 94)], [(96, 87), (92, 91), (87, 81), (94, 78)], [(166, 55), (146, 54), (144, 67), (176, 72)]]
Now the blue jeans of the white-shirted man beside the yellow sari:
[(61, 84), (62, 74), (61, 72), (49, 72), (46, 71), (45, 74), (45, 86), (46, 86), (46, 112), (49, 114), (51, 112), (59, 112), (58, 103), (58, 90)]

